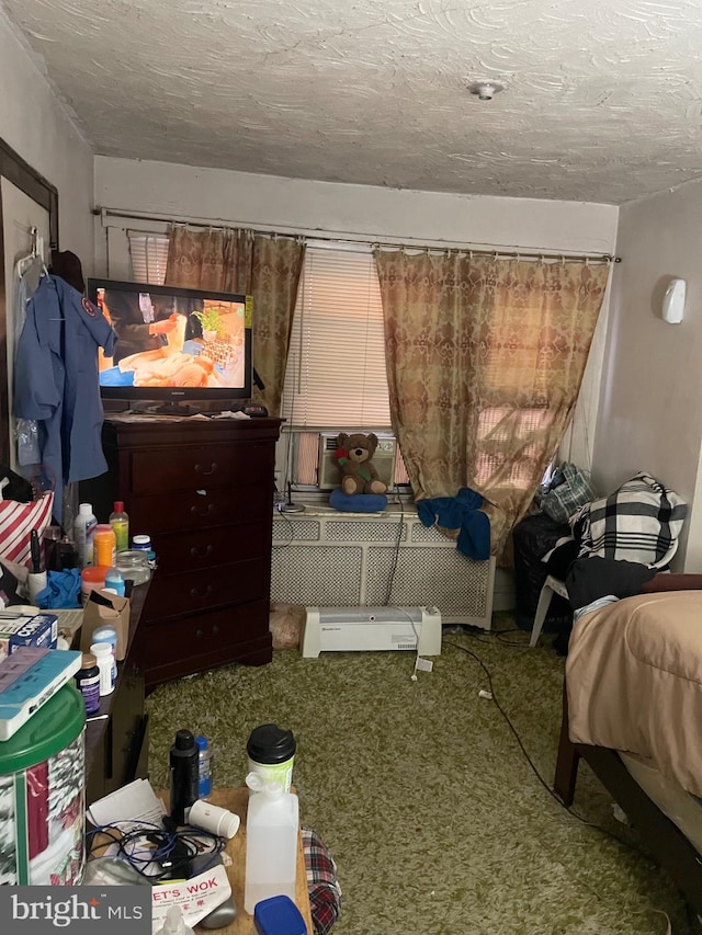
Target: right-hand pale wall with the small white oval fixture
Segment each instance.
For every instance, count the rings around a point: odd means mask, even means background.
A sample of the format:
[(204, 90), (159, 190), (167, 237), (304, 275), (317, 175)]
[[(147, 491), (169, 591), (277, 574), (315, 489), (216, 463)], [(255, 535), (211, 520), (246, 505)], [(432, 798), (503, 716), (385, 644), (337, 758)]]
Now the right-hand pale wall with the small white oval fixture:
[[(645, 469), (694, 503), (702, 440), (702, 182), (620, 208), (593, 471), (615, 489)], [(680, 324), (660, 316), (672, 277), (688, 282)], [(702, 571), (702, 497), (673, 567)], [(687, 538), (687, 544), (686, 544)]]

